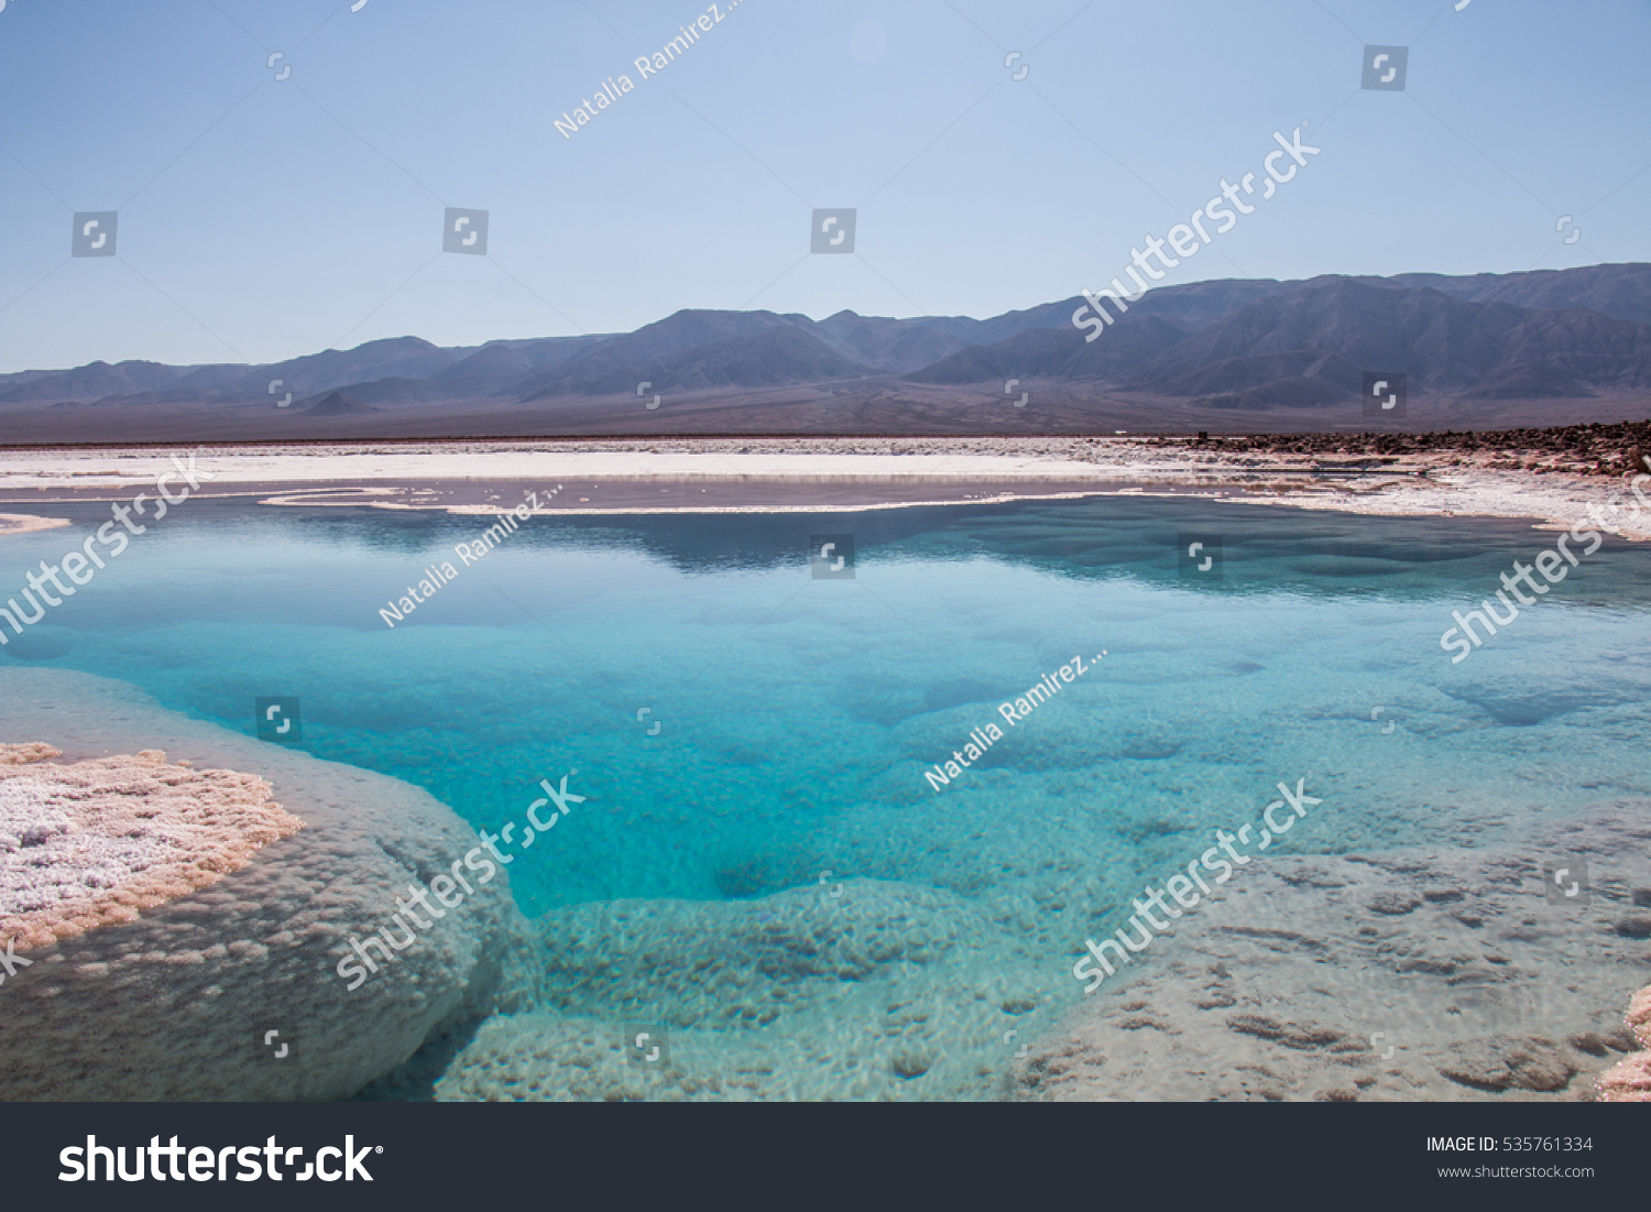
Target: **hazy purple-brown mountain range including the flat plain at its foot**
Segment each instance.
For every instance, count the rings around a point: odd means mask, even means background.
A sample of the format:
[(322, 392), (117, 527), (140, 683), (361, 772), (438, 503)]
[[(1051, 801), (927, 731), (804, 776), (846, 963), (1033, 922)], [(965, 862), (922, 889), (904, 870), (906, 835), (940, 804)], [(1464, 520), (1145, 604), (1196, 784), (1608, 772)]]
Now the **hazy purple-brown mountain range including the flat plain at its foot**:
[[(127, 439), (1083, 431), (1126, 418), (1359, 428), (1367, 372), (1405, 375), (1423, 413), (1446, 419), (1545, 406), (1559, 423), (1651, 400), (1651, 264), (1167, 286), (1095, 340), (1073, 324), (1085, 307), (1075, 296), (986, 320), (680, 310), (629, 334), (26, 370), (0, 375), (0, 441), (89, 428)], [(1015, 395), (1010, 380), (1047, 408), (982, 414)], [(655, 395), (665, 408), (644, 403)]]

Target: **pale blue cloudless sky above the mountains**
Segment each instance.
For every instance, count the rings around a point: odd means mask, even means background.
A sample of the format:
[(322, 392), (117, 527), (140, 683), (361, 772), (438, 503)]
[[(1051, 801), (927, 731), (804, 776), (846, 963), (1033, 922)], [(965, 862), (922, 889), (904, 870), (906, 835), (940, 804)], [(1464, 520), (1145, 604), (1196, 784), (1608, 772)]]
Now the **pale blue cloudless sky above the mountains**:
[[(0, 370), (680, 307), (984, 317), (1105, 284), (1223, 177), (1260, 195), (1273, 130), (1303, 121), (1321, 154), (1166, 284), (1651, 261), (1644, 0), (720, 12), (644, 79), (708, 7), (10, 0)], [(1367, 43), (1410, 48), (1403, 91), (1360, 88)], [(447, 206), (489, 211), (487, 256), (441, 251)], [(855, 253), (811, 254), (835, 206)], [(69, 258), (73, 215), (109, 210), (117, 256)]]

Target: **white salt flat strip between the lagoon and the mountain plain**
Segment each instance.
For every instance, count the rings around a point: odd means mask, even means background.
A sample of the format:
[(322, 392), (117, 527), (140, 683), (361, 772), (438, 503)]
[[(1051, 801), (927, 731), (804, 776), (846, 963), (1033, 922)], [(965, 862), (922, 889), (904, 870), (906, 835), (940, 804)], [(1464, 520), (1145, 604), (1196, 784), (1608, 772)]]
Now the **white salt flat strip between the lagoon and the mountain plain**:
[[(0, 452), (0, 505), (130, 499), (165, 449)], [(1213, 452), (1136, 438), (826, 438), (406, 443), (198, 447), (206, 497), (477, 514), (527, 492), (545, 514), (849, 510), (1090, 494), (1197, 492), (1232, 502), (1384, 515), (1530, 517), (1568, 528), (1621, 505), (1651, 538), (1651, 499), (1626, 481), (1507, 467), (1506, 456)], [(563, 485), (555, 500), (548, 490)]]

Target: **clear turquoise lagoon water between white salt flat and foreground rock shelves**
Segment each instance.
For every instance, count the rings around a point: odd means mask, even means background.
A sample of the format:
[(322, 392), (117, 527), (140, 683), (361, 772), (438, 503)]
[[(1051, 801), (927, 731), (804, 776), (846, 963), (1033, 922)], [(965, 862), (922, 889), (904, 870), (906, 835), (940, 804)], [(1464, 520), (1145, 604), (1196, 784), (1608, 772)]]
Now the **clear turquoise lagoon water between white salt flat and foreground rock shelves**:
[[(0, 593), (107, 518), (53, 512), (74, 527), (0, 542)], [(1469, 819), (1489, 844), (1651, 796), (1651, 576), (1620, 540), (1453, 665), (1451, 609), (1552, 532), (1113, 497), (535, 518), (464, 566), (454, 543), (484, 528), (192, 502), (0, 662), (122, 679), (249, 735), (256, 697), (294, 695), (300, 748), (492, 832), (568, 776), (586, 802), (510, 867), (528, 915), (949, 893), (994, 925), (959, 963), (1020, 973), (1048, 1014), (1078, 996), (1085, 936), (1281, 779), (1324, 799), (1293, 854), (1453, 845)], [(811, 575), (814, 535), (854, 537), (852, 578)], [(1220, 540), (1212, 573), (1177, 561), (1197, 538)], [(442, 561), (457, 576), (386, 626)], [(1007, 727), (999, 703), (1075, 656), (1086, 672)], [(987, 723), (1004, 738), (936, 791), (925, 771)]]

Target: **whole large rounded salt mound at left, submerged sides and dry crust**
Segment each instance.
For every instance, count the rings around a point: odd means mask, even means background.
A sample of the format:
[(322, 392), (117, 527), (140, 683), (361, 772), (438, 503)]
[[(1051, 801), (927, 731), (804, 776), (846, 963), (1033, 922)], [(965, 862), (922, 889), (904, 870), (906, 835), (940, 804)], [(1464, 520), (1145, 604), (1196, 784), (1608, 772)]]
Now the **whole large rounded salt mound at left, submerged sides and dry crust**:
[(0, 665), (0, 738), (40, 736), (79, 761), (0, 750), (3, 916), (86, 920), (0, 969), (0, 1103), (348, 1098), (532, 984), (504, 873), (358, 987), (340, 978), (353, 938), (395, 931), (396, 898), (477, 845), (419, 788), (121, 682)]

